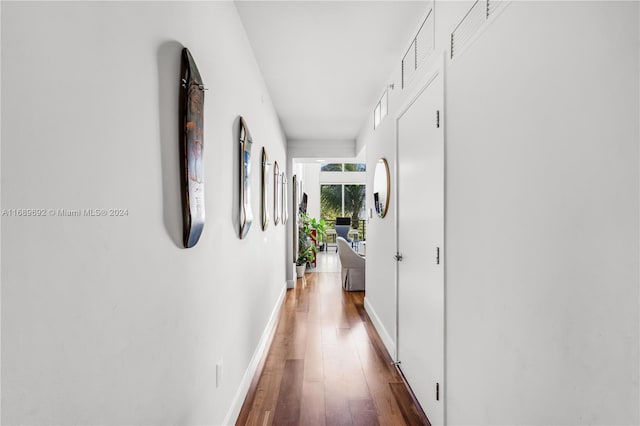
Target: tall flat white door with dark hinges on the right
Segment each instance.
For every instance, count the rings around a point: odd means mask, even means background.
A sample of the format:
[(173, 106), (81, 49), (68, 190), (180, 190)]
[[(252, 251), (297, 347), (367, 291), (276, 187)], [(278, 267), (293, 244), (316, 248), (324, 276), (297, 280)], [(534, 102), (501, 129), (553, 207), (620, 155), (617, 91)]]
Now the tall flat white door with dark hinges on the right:
[(397, 118), (398, 361), (432, 425), (444, 424), (444, 133), (441, 72)]

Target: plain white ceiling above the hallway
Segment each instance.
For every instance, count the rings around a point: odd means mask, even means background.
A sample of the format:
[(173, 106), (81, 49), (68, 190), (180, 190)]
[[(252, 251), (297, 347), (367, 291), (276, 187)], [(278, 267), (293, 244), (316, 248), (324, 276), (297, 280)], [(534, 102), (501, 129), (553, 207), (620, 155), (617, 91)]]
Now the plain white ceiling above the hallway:
[(354, 140), (426, 1), (236, 1), (289, 140)]

